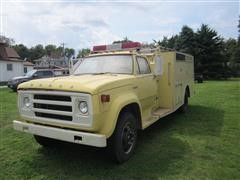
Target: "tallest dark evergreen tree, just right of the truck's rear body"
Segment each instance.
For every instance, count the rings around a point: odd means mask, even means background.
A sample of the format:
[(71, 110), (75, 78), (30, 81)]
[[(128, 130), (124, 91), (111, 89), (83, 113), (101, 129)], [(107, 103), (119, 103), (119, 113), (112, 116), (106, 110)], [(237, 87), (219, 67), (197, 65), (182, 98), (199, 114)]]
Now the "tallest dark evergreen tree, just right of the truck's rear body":
[(203, 24), (196, 32), (196, 71), (205, 78), (226, 78), (229, 76), (227, 60), (223, 54), (223, 39), (208, 25)]

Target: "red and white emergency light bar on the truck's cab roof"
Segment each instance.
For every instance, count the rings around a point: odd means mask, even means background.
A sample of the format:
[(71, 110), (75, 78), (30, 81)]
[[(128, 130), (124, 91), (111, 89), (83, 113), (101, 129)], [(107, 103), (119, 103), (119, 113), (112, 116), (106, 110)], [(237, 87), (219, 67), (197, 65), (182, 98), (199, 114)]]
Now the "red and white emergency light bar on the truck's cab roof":
[(99, 45), (93, 46), (93, 52), (104, 52), (104, 51), (120, 51), (129, 49), (138, 49), (141, 47), (139, 42), (124, 42), (111, 45)]

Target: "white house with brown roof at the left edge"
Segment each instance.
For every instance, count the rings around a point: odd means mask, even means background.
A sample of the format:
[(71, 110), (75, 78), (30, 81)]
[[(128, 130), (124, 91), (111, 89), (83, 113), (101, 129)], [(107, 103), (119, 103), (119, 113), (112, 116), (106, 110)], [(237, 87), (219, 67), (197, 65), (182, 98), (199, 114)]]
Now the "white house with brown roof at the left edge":
[(23, 76), (32, 69), (32, 63), (21, 60), (13, 48), (0, 43), (0, 82), (6, 82), (16, 76)]

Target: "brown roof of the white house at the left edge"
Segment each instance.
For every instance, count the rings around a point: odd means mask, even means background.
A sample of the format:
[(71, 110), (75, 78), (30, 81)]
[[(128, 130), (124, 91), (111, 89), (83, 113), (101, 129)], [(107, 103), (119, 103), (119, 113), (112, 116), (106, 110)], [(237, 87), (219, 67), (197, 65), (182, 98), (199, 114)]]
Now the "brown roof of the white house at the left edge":
[(0, 43), (0, 60), (4, 61), (23, 61), (20, 59), (20, 56), (11, 47), (7, 47), (7, 44)]

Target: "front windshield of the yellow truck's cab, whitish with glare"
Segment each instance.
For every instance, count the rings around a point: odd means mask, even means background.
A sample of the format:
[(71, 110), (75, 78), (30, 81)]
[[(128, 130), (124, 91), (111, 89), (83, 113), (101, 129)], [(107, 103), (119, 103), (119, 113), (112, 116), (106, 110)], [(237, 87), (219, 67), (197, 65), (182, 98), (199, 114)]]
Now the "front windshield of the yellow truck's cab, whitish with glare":
[(131, 55), (106, 55), (87, 57), (73, 72), (79, 74), (132, 74)]

